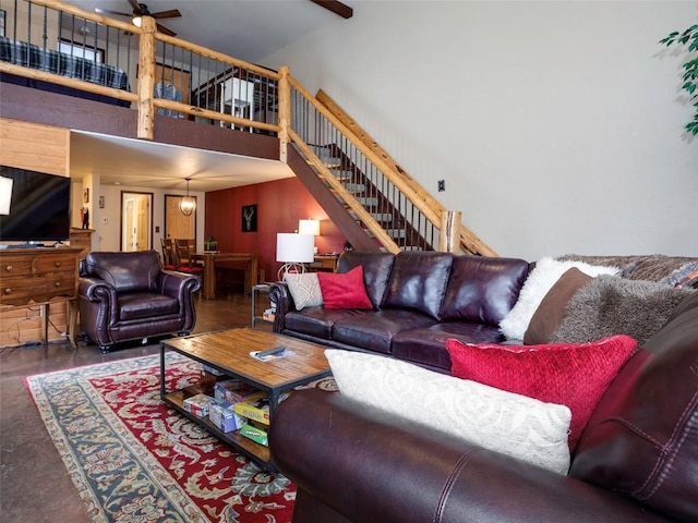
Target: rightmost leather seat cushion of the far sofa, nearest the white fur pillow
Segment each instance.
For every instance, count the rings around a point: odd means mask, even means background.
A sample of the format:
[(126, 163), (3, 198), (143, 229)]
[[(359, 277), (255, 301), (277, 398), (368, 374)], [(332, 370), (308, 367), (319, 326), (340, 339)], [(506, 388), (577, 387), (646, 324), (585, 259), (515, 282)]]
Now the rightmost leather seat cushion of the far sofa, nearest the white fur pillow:
[(504, 340), (497, 327), (476, 321), (444, 321), (426, 328), (414, 328), (393, 337), (393, 356), (406, 362), (450, 374), (450, 356), (446, 340), (456, 338), (467, 343), (500, 343)]

